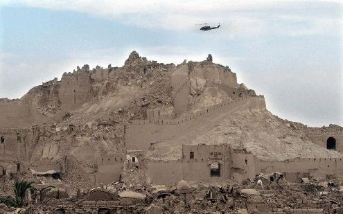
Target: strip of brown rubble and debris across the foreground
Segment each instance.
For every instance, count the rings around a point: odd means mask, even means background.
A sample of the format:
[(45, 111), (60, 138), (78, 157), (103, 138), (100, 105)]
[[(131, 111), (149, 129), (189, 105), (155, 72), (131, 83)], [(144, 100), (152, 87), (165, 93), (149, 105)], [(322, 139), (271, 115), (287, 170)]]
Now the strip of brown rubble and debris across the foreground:
[[(267, 213), (342, 211), (342, 179), (303, 179), (292, 183), (275, 172), (267, 179), (256, 175), (254, 181), (242, 183), (221, 181), (209, 184), (188, 184), (179, 181), (166, 185), (127, 185), (115, 182), (103, 188), (78, 190), (77, 195), (66, 198), (66, 193), (42, 191), (42, 202), (21, 208), (18, 213), (64, 211), (89, 213), (94, 211), (122, 211), (126, 213)], [(264, 186), (258, 184), (263, 180)], [(49, 193), (51, 190), (49, 190)], [(56, 198), (57, 197), (57, 198)], [(3, 205), (2, 205), (3, 206)], [(6, 208), (5, 211), (15, 211)]]

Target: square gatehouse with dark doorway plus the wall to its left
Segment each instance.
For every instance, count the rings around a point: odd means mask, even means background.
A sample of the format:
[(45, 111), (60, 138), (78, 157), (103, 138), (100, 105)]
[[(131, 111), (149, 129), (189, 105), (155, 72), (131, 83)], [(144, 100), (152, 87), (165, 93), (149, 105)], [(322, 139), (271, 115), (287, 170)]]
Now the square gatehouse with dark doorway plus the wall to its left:
[[(181, 179), (211, 181), (229, 179), (231, 172), (230, 146), (182, 145), (182, 159), (177, 161), (146, 161), (146, 177), (153, 184), (168, 184)], [(192, 152), (192, 154), (191, 154)], [(220, 177), (211, 175), (211, 164), (218, 163)]]

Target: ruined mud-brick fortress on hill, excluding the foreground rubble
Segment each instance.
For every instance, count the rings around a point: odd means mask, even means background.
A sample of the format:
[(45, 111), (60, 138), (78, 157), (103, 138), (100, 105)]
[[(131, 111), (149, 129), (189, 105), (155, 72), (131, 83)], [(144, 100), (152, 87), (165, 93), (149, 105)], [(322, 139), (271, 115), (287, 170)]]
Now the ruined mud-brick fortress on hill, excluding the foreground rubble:
[(272, 115), (211, 55), (175, 65), (133, 51), (121, 67), (86, 64), (0, 99), (0, 118), (0, 176), (53, 170), (64, 184), (91, 188), (343, 175), (342, 127)]

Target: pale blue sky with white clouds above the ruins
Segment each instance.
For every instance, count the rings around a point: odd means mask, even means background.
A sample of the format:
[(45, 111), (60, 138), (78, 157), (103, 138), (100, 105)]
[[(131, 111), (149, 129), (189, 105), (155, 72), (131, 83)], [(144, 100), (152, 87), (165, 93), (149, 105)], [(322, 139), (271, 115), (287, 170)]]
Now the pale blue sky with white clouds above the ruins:
[[(0, 97), (77, 65), (228, 65), (281, 118), (343, 125), (342, 1), (0, 1)], [(220, 22), (203, 32), (199, 23)]]

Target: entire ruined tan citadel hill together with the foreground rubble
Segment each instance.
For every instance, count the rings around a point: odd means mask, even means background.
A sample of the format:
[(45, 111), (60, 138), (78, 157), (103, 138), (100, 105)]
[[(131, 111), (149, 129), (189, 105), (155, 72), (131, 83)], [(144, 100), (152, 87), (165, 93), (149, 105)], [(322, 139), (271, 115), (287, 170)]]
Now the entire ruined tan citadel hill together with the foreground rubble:
[(211, 55), (77, 66), (0, 118), (3, 213), (343, 213), (343, 128), (274, 116)]

